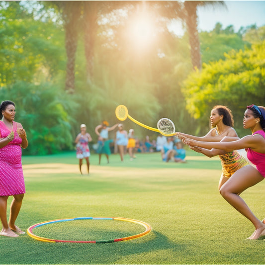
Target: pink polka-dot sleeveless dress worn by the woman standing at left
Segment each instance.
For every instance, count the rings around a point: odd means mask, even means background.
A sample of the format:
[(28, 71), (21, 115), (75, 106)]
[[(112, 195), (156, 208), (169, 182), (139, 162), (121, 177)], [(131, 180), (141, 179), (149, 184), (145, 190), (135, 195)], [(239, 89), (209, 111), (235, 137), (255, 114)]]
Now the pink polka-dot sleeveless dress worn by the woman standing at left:
[[(16, 132), (17, 124), (13, 121), (14, 139), (0, 148), (0, 196), (25, 193), (25, 183), (21, 164), (22, 139)], [(0, 138), (5, 138), (10, 130), (0, 121)]]

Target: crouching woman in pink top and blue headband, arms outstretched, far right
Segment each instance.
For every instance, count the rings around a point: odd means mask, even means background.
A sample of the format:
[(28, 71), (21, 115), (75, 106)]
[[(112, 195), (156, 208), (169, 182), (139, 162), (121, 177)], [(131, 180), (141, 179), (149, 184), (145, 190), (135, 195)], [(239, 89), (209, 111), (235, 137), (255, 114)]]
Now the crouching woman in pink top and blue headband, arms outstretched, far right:
[(200, 142), (184, 139), (184, 143), (194, 147), (217, 148), (222, 150), (247, 150), (248, 159), (255, 165), (239, 169), (221, 187), (221, 195), (242, 215), (255, 226), (254, 233), (248, 239), (258, 239), (265, 236), (265, 219), (259, 220), (250, 210), (246, 202), (240, 197), (244, 190), (256, 185), (265, 178), (265, 107), (250, 105), (245, 111), (243, 126), (251, 129), (252, 135), (238, 138), (225, 137), (222, 142)]

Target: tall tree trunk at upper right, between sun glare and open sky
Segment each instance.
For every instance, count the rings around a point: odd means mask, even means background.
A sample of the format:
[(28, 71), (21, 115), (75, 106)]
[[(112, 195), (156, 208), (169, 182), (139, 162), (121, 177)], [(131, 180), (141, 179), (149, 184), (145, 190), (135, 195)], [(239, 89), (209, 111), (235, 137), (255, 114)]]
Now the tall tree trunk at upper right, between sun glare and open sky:
[(190, 57), (193, 69), (201, 69), (200, 40), (197, 29), (197, 6), (225, 6), (224, 1), (184, 1), (185, 22), (189, 36)]

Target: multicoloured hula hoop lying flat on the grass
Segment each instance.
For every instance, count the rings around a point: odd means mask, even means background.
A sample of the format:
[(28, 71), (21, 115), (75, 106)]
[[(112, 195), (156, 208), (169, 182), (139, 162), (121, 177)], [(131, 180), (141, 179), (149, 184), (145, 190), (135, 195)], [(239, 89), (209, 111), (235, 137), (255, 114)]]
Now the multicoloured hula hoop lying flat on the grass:
[[(36, 227), (40, 227), (40, 226), (48, 225), (48, 224), (52, 224), (52, 223), (75, 221), (75, 220), (126, 221), (126, 222), (131, 222), (131, 223), (142, 225), (146, 228), (146, 230), (140, 234), (129, 236), (129, 237), (124, 237), (124, 238), (117, 238), (117, 239), (110, 239), (110, 240), (90, 240), (90, 241), (57, 240), (57, 239), (50, 239), (50, 238), (44, 238), (44, 237), (36, 236), (32, 233), (32, 230)], [(130, 239), (142, 237), (142, 236), (148, 234), (151, 231), (151, 229), (152, 228), (148, 223), (134, 220), (134, 219), (123, 218), (123, 217), (78, 217), (78, 218), (69, 218), (69, 219), (57, 219), (57, 220), (51, 220), (51, 221), (38, 223), (38, 224), (35, 224), (35, 225), (32, 225), (31, 227), (29, 227), (27, 229), (27, 233), (30, 237), (32, 237), (36, 240), (39, 240), (39, 241), (43, 241), (43, 242), (52, 242), (52, 243), (58, 243), (58, 242), (66, 242), (66, 243), (113, 243), (113, 242), (125, 241), (125, 240), (130, 240)]]

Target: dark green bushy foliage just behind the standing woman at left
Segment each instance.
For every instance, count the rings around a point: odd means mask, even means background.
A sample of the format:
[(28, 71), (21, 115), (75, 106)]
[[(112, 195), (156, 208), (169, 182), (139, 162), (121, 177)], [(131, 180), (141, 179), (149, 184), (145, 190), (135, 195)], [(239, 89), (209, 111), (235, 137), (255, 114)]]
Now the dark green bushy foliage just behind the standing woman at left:
[(0, 98), (16, 104), (16, 121), (26, 130), (29, 146), (23, 152), (46, 155), (73, 149), (74, 119), (77, 107), (70, 96), (50, 83), (39, 86), (19, 81), (0, 89)]

